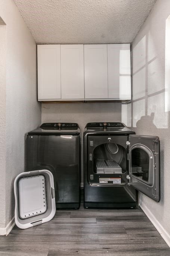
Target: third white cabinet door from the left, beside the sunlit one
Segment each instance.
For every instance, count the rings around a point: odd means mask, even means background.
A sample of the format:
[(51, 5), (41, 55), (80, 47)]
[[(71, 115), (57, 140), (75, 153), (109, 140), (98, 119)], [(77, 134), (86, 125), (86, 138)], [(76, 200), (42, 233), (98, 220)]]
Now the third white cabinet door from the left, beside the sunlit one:
[(85, 99), (108, 98), (107, 45), (84, 45)]

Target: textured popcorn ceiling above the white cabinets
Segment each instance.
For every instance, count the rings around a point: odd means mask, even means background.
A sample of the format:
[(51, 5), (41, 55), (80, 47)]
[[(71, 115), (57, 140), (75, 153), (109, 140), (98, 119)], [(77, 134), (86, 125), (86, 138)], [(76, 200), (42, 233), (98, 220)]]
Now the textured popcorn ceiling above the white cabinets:
[(156, 0), (14, 0), (37, 43), (130, 43)]

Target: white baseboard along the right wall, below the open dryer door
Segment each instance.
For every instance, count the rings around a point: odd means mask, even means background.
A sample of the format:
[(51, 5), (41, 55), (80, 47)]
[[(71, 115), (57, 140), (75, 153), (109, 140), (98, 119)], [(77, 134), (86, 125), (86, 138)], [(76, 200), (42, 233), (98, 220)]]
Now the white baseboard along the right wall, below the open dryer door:
[(145, 204), (139, 203), (139, 206), (142, 209), (142, 211), (146, 214), (148, 219), (152, 222), (152, 224), (157, 229), (157, 231), (160, 233), (161, 237), (165, 240), (167, 245), (170, 247), (170, 235), (168, 234), (168, 232), (158, 222), (158, 220), (155, 218), (155, 216), (151, 213), (151, 211), (148, 209), (148, 207)]

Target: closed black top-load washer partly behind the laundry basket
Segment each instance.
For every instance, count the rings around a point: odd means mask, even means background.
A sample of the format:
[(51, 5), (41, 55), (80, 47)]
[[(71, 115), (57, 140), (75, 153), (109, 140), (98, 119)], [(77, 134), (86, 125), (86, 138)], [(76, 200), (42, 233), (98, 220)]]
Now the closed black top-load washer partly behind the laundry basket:
[(77, 123), (43, 123), (27, 135), (26, 171), (47, 169), (56, 208), (80, 207), (80, 129)]

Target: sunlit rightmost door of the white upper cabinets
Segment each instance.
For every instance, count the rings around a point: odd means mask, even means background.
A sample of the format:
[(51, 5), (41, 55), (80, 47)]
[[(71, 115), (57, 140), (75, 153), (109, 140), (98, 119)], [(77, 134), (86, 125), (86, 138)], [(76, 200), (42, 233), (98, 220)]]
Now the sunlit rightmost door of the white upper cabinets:
[(108, 44), (108, 97), (131, 99), (130, 44)]

